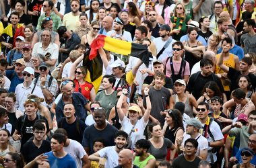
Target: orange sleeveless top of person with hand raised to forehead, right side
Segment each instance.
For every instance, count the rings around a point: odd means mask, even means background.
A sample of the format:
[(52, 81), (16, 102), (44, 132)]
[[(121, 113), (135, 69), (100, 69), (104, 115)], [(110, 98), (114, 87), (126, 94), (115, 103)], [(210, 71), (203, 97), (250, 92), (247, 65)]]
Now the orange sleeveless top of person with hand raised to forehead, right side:
[[(220, 54), (216, 55), (217, 60), (220, 58)], [(228, 60), (223, 60), (224, 65), (226, 65), (227, 67), (231, 67), (231, 68), (235, 68), (236, 67), (236, 63), (234, 62), (234, 54), (230, 53), (230, 56), (228, 58)], [(216, 65), (215, 67), (215, 73), (224, 73), (224, 71), (222, 69), (220, 69), (220, 67), (218, 65)], [(221, 78), (220, 79), (222, 81), (222, 85), (224, 88), (224, 91), (230, 91), (230, 87), (229, 85), (225, 84), (227, 79)]]

